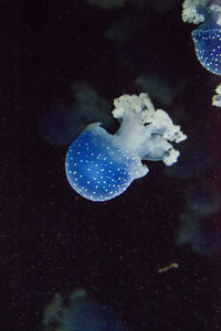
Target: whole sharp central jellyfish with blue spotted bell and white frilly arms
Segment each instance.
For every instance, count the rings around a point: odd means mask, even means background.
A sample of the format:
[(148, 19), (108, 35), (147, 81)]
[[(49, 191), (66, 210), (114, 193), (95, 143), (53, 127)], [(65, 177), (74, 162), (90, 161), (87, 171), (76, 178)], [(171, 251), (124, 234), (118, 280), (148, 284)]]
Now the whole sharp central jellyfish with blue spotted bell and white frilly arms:
[(72, 188), (91, 201), (107, 201), (148, 173), (141, 161), (177, 162), (170, 142), (187, 138), (169, 115), (155, 110), (147, 94), (123, 95), (114, 100), (113, 116), (120, 122), (115, 135), (99, 122), (90, 125), (70, 146), (66, 177)]

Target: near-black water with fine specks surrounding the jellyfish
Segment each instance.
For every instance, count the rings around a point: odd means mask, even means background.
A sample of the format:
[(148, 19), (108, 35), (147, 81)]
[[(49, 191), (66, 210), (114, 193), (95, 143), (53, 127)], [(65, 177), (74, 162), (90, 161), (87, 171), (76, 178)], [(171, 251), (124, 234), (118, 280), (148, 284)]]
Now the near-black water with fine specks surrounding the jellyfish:
[[(118, 36), (109, 39), (115, 22)], [(221, 113), (211, 106), (219, 77), (197, 61), (192, 28), (181, 21), (181, 1), (164, 12), (133, 1), (112, 10), (74, 0), (0, 2), (0, 330), (42, 330), (54, 293), (76, 287), (129, 331), (221, 330), (219, 207), (209, 231), (198, 222), (192, 243), (176, 244), (187, 196), (206, 186), (201, 209), (210, 192), (221, 193)], [(144, 90), (135, 81), (149, 73), (182, 83), (169, 106), (152, 99), (189, 136), (178, 146), (180, 161), (169, 171), (148, 163), (149, 174), (109, 202), (84, 200), (65, 178), (69, 143), (42, 137), (42, 116), (74, 104), (75, 82), (86, 82), (110, 113), (115, 97)], [(170, 263), (179, 268), (158, 274)]]

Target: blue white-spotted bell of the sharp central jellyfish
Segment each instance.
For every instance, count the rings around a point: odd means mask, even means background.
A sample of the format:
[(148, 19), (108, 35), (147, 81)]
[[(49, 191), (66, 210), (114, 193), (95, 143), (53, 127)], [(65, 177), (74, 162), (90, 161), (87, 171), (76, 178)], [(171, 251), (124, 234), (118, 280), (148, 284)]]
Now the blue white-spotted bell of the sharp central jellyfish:
[(66, 177), (72, 188), (92, 201), (122, 194), (147, 171), (140, 159), (126, 151), (99, 124), (90, 125), (66, 154)]

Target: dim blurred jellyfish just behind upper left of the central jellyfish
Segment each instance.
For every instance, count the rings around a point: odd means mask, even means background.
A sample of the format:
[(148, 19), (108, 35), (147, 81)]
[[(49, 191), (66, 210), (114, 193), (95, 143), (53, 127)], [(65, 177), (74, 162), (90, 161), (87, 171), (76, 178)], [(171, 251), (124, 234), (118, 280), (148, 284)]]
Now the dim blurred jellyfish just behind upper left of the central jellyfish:
[(92, 121), (101, 120), (108, 126), (108, 103), (85, 82), (72, 85), (73, 102), (57, 102), (44, 107), (39, 118), (42, 139), (53, 146), (65, 146)]

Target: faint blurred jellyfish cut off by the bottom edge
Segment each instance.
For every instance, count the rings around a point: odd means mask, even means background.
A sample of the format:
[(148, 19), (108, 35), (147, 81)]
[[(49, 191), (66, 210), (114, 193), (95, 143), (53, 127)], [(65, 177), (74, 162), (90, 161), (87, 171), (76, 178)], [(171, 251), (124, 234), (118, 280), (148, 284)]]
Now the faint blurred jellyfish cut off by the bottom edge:
[(74, 290), (70, 305), (56, 295), (44, 310), (44, 331), (124, 331), (118, 316), (105, 305), (86, 298), (84, 289)]

